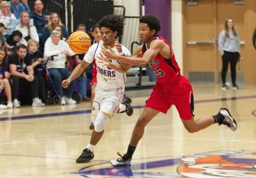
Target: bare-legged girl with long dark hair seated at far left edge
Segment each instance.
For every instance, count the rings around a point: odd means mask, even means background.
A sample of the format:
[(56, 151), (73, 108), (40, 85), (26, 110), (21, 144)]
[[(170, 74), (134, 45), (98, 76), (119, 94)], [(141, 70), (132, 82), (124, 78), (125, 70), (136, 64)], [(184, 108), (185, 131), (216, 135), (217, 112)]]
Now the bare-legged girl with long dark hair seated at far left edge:
[(6, 48), (0, 46), (0, 88), (3, 89), (6, 93), (7, 97), (7, 106), (6, 108), (12, 108), (12, 93), (11, 93), (11, 86), (9, 83), (9, 78), (11, 74), (8, 72), (9, 63), (7, 59), (7, 51)]

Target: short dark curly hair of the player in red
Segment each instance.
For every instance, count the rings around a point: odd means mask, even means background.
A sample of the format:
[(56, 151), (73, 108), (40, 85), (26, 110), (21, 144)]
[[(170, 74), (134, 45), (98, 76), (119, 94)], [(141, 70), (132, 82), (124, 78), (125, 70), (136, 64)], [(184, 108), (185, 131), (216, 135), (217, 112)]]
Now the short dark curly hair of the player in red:
[(156, 30), (155, 35), (161, 29), (161, 23), (158, 17), (152, 14), (148, 14), (140, 17), (140, 23), (146, 23), (150, 30)]

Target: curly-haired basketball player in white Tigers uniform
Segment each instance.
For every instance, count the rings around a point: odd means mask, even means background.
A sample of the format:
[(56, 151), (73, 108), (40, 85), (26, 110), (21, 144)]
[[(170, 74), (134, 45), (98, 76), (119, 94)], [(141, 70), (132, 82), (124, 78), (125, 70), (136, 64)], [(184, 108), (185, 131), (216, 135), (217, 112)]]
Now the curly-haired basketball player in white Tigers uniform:
[(98, 58), (100, 57), (100, 52), (104, 48), (108, 49), (108, 46), (115, 53), (130, 57), (129, 50), (115, 41), (117, 37), (122, 35), (124, 30), (124, 18), (116, 15), (105, 16), (99, 21), (99, 27), (102, 40), (90, 47), (82, 62), (77, 65), (70, 77), (62, 82), (62, 87), (67, 88), (72, 80), (77, 78), (94, 59), (96, 60), (97, 87), (91, 115), (95, 128), (92, 131), (90, 143), (76, 160), (77, 163), (89, 162), (93, 159), (93, 149), (104, 134), (107, 120), (114, 118), (119, 110), (119, 104), (125, 90), (125, 72), (131, 67), (130, 64), (119, 63), (116, 60), (113, 60), (112, 64), (106, 67)]

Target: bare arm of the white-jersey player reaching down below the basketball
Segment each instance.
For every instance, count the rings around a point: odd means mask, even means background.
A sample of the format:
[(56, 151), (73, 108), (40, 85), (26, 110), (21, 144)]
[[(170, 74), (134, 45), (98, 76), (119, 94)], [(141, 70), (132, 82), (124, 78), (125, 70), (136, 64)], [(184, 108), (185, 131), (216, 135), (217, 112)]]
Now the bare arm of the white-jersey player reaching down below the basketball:
[(71, 73), (70, 77), (68, 79), (62, 81), (62, 87), (67, 88), (68, 85), (72, 82), (72, 80), (75, 80), (77, 77), (79, 77), (85, 69), (90, 65), (90, 63), (85, 62), (85, 60), (82, 60), (80, 64), (76, 66), (76, 68)]

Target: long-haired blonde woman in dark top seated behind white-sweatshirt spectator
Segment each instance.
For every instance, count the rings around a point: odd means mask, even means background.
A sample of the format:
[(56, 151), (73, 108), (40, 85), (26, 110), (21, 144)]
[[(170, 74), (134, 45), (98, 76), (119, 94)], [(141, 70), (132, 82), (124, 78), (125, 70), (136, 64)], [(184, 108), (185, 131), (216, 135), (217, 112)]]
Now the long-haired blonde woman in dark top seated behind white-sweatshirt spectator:
[(63, 38), (68, 39), (69, 35), (68, 35), (66, 27), (63, 26), (63, 24), (61, 22), (61, 19), (58, 16), (58, 14), (56, 12), (53, 12), (53, 13), (51, 13), (51, 15), (49, 17), (48, 23), (46, 24), (45, 28), (43, 28), (41, 50), (44, 49), (43, 46), (45, 45), (47, 38), (50, 37), (50, 34), (51, 34), (52, 30), (56, 26), (61, 26)]

